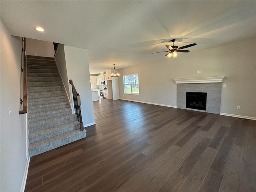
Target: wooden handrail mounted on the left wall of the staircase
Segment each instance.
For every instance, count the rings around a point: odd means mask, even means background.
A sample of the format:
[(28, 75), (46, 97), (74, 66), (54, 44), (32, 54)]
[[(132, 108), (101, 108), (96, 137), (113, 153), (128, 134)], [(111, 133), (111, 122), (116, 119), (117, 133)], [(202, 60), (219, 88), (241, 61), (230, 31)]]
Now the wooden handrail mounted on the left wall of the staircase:
[(27, 113), (27, 60), (26, 60), (26, 38), (22, 39), (23, 42), (23, 68), (21, 67), (21, 73), (23, 72), (23, 100), (20, 98), (20, 104), (23, 104), (23, 110), (19, 111), (19, 114)]

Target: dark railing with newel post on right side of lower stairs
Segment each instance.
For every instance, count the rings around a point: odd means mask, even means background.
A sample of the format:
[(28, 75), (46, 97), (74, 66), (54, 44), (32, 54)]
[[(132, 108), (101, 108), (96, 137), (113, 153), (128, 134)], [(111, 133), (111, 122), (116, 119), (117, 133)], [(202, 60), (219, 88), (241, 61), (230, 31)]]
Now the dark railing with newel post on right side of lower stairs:
[(72, 86), (72, 94), (73, 94), (73, 100), (74, 100), (74, 108), (75, 108), (75, 113), (77, 115), (77, 120), (80, 122), (80, 130), (84, 130), (84, 123), (82, 121), (82, 113), (81, 113), (81, 99), (79, 93), (77, 93), (76, 88), (73, 84), (73, 81), (70, 79), (68, 81), (71, 86)]

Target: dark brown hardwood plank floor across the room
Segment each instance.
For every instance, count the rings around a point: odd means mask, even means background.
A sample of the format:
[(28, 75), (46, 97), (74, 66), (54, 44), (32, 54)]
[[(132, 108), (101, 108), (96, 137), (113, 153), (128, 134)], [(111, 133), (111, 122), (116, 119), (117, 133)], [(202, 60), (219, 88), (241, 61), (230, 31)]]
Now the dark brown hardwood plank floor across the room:
[(256, 121), (123, 100), (87, 138), (34, 156), (27, 192), (255, 192)]

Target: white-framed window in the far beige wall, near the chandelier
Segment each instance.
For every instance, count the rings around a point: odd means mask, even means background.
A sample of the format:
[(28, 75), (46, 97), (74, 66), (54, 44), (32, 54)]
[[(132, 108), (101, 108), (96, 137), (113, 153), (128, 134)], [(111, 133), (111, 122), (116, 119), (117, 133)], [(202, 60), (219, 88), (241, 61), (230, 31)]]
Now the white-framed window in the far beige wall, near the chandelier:
[(124, 75), (124, 93), (139, 94), (139, 74)]

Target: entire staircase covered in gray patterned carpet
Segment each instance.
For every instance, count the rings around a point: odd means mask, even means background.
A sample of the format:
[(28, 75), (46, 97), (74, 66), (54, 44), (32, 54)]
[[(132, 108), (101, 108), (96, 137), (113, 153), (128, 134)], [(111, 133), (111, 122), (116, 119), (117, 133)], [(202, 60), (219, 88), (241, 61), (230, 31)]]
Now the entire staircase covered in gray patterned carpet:
[(30, 157), (86, 137), (53, 58), (27, 56), (27, 98)]

